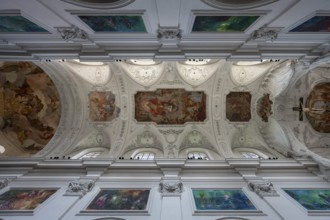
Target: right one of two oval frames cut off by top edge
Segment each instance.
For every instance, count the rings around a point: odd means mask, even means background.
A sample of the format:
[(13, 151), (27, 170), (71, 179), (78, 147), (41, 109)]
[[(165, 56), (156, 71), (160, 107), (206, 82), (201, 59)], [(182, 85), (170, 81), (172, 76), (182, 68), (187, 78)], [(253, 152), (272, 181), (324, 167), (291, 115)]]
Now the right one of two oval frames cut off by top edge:
[(278, 0), (201, 0), (202, 2), (221, 9), (250, 9), (268, 5)]

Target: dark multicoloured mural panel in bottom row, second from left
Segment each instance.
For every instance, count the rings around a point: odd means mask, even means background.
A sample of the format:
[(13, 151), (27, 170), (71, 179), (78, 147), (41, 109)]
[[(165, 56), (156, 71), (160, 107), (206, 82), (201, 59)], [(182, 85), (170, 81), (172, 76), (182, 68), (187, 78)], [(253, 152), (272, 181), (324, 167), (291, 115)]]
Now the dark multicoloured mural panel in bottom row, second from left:
[(149, 193), (149, 189), (103, 189), (86, 210), (146, 210)]

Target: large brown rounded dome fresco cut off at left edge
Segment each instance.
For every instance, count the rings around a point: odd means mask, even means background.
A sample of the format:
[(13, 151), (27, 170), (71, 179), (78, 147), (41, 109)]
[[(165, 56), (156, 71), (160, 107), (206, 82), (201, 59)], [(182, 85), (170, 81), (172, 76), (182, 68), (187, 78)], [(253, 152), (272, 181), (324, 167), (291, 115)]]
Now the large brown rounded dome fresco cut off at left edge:
[(42, 68), (31, 62), (0, 63), (0, 143), (5, 156), (42, 150), (60, 117), (58, 90)]

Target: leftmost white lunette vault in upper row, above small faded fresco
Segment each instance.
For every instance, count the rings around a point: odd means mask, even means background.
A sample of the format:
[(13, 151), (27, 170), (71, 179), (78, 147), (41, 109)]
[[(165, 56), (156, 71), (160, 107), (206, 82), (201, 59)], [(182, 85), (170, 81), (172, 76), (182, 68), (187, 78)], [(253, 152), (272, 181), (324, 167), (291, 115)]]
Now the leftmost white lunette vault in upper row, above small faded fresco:
[(103, 62), (68, 61), (65, 65), (84, 81), (95, 86), (105, 85), (111, 78), (109, 65)]

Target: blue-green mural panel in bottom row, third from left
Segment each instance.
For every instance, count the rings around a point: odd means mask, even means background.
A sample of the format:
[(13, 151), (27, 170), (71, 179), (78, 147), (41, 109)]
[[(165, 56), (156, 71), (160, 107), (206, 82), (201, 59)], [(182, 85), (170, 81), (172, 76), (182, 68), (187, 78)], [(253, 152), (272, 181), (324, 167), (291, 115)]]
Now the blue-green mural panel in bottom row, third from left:
[(238, 189), (193, 189), (197, 210), (256, 210)]

